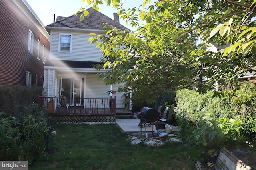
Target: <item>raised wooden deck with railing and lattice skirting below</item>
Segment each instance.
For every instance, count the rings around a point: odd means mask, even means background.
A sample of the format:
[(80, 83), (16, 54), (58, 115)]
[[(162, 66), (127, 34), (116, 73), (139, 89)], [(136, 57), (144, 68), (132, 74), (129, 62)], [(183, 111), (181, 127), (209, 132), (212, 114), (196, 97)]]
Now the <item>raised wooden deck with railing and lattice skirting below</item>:
[[(83, 105), (77, 105), (77, 100), (83, 100)], [(63, 102), (65, 101), (65, 102)], [(38, 97), (38, 103), (45, 105), (50, 122), (115, 122), (115, 98), (59, 98)]]

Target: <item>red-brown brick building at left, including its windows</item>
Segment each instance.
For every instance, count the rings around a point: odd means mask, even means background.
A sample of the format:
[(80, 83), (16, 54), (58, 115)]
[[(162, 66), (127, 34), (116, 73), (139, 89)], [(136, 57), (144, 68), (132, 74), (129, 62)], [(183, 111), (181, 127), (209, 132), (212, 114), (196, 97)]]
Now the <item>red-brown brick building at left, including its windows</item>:
[(50, 35), (26, 0), (0, 0), (0, 86), (43, 86)]

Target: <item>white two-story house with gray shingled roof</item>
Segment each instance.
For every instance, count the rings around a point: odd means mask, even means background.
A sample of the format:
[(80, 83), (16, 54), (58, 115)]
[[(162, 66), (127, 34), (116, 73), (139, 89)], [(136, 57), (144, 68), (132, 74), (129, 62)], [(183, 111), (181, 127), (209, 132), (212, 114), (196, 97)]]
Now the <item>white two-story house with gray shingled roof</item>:
[[(118, 90), (116, 84), (106, 86), (98, 73), (106, 70), (96, 70), (94, 64), (99, 64), (102, 52), (96, 48), (96, 43), (90, 44), (88, 39), (90, 33), (104, 34), (102, 25), (107, 23), (118, 29), (127, 29), (108, 16), (94, 10), (88, 9), (89, 16), (80, 21), (78, 16), (57, 17), (54, 23), (45, 28), (50, 33), (50, 59), (44, 66), (44, 95), (47, 97), (67, 98), (67, 105), (88, 107), (81, 98), (110, 98), (108, 91)], [(119, 19), (119, 17), (118, 17)], [(74, 102), (71, 98), (80, 98)], [(116, 108), (124, 109), (125, 98), (123, 94), (112, 94), (116, 96)], [(55, 108), (59, 102), (55, 102)]]

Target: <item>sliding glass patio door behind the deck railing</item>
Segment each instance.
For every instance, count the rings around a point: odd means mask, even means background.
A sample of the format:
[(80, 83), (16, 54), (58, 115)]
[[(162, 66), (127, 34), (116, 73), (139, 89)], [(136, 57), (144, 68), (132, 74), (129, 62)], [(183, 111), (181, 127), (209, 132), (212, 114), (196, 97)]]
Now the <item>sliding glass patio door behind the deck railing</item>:
[(67, 104), (74, 106), (74, 96), (76, 99), (76, 106), (81, 106), (81, 78), (61, 78), (60, 79), (60, 95), (67, 98)]

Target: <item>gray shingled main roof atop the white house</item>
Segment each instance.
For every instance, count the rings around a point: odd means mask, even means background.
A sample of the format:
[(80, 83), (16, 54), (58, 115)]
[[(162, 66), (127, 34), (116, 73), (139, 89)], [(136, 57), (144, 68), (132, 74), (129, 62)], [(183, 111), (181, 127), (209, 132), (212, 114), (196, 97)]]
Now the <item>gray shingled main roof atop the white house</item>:
[(87, 9), (89, 15), (84, 17), (84, 20), (80, 21), (80, 14), (77, 16), (69, 17), (57, 17), (54, 23), (47, 25), (46, 27), (63, 27), (63, 28), (78, 28), (78, 29), (98, 29), (102, 30), (102, 25), (108, 23), (108, 26), (114, 26), (118, 29), (128, 29), (120, 23), (112, 20), (108, 16), (102, 14), (99, 11), (94, 10), (92, 7)]

